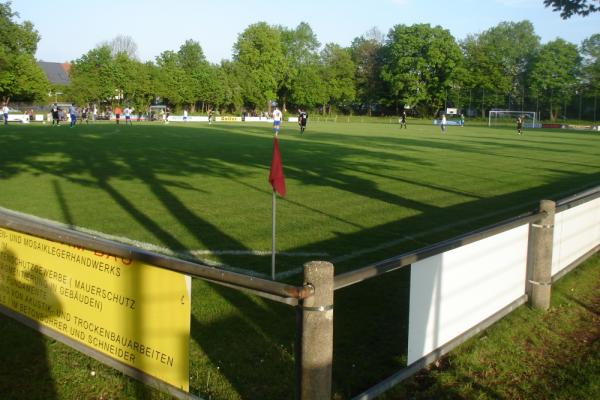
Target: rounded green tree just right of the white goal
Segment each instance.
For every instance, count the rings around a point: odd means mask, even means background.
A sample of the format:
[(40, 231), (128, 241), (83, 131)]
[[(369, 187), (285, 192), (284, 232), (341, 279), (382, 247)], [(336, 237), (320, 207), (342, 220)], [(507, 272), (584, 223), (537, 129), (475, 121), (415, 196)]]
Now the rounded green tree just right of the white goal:
[(563, 39), (543, 45), (533, 60), (528, 79), (531, 92), (547, 107), (552, 121), (575, 94), (580, 67), (577, 46)]

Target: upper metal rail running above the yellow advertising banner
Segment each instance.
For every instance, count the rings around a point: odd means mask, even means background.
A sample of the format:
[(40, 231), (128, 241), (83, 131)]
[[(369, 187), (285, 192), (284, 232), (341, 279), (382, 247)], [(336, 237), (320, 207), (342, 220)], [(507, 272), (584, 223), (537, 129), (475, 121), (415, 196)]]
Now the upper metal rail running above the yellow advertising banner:
[(84, 232), (67, 229), (62, 226), (51, 224), (48, 221), (35, 219), (4, 208), (0, 208), (0, 228), (2, 227), (64, 244), (101, 251), (105, 254), (143, 261), (157, 267), (180, 272), (195, 278), (228, 283), (233, 287), (252, 289), (257, 292), (295, 299), (302, 299), (311, 295), (310, 288), (308, 287), (292, 286), (158, 253), (152, 253), (108, 239), (95, 237)]

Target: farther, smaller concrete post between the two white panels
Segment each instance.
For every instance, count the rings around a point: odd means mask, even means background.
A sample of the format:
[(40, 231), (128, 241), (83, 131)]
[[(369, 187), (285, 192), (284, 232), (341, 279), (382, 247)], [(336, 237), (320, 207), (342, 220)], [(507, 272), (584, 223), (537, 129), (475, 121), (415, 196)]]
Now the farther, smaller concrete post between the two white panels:
[(554, 240), (554, 213), (556, 203), (550, 200), (540, 202), (540, 212), (544, 213), (539, 223), (532, 224), (532, 270), (529, 304), (533, 308), (550, 308), (552, 289), (552, 246)]

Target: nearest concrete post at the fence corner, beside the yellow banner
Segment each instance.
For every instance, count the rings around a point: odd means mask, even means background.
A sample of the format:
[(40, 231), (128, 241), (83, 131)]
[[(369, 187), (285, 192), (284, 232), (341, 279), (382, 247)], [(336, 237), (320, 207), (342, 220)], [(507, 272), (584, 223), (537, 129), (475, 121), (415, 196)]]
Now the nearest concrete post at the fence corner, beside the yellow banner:
[(312, 285), (315, 293), (302, 304), (301, 400), (331, 399), (333, 273), (328, 262), (304, 265), (304, 284)]

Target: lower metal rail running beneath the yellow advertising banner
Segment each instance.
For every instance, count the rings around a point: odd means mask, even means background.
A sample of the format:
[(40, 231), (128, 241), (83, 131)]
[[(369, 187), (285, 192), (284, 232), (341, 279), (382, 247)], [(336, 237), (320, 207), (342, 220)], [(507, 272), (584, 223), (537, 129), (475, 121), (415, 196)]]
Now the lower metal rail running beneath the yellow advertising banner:
[(81, 344), (80, 342), (75, 341), (75, 340), (71, 339), (70, 337), (65, 336), (65, 335), (55, 331), (54, 329), (48, 328), (44, 325), (40, 325), (39, 322), (34, 321), (30, 318), (27, 318), (27, 317), (25, 317), (17, 312), (14, 312), (13, 310), (6, 308), (2, 305), (0, 305), (0, 313), (4, 314), (10, 318), (15, 319), (16, 321), (22, 323), (23, 325), (25, 325), (37, 332), (42, 333), (45, 336), (48, 336), (54, 340), (57, 340), (74, 350), (77, 350), (80, 353), (83, 353), (86, 356), (91, 357), (94, 360), (97, 360), (104, 365), (114, 368), (117, 371), (120, 371), (120, 372), (124, 373), (125, 375), (128, 375), (134, 379), (137, 379), (138, 381), (140, 381), (148, 386), (152, 386), (155, 389), (158, 389), (162, 392), (168, 393), (177, 399), (202, 400), (202, 398), (200, 398), (200, 397), (197, 397), (191, 393), (186, 393), (186, 392), (182, 391), (181, 389), (176, 388), (175, 386), (172, 386), (166, 382), (161, 381), (160, 379), (157, 379), (153, 376), (146, 374), (143, 371), (140, 371), (137, 368), (133, 368), (129, 365), (123, 364), (123, 363), (115, 360), (114, 358), (107, 356), (104, 353), (94, 350), (91, 347), (85, 346), (85, 345)]

